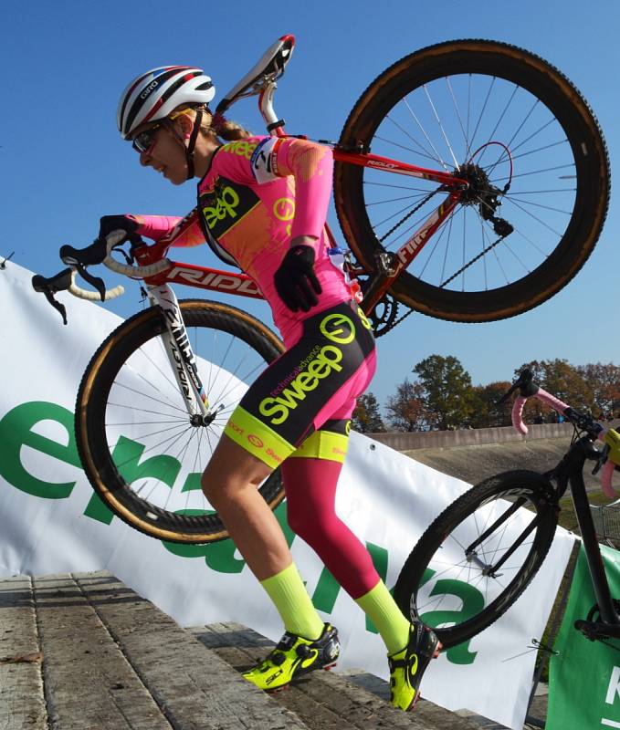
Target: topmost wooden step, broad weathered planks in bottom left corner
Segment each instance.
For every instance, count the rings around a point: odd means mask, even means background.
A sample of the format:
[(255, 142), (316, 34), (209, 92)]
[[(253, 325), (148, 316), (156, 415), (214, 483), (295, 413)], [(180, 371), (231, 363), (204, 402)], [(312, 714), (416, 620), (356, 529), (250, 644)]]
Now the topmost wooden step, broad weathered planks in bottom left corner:
[(3, 730), (306, 727), (110, 573), (0, 581), (0, 627)]

